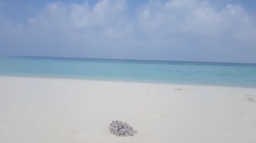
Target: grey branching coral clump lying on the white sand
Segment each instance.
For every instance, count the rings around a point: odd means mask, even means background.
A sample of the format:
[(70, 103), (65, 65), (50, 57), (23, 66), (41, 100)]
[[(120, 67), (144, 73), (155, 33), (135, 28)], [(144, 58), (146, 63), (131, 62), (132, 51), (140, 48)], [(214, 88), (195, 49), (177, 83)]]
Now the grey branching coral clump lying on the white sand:
[(129, 124), (118, 120), (110, 123), (110, 131), (117, 136), (133, 136), (135, 133), (137, 133), (137, 131), (135, 131), (133, 127), (129, 126)]

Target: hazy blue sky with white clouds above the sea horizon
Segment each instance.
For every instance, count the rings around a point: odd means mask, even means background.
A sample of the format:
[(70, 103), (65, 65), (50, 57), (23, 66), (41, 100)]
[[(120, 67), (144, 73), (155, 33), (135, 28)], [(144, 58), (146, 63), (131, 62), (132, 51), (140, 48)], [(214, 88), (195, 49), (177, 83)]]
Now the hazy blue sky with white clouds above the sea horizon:
[(256, 1), (0, 0), (0, 55), (256, 63)]

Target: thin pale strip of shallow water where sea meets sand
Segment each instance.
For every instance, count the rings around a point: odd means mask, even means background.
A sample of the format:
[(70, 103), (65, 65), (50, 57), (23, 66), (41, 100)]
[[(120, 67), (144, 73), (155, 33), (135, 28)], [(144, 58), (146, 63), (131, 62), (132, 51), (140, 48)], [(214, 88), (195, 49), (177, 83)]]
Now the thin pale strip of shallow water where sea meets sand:
[(146, 82), (146, 81), (125, 81), (125, 80), (104, 80), (104, 79), (86, 79), (86, 78), (65, 78), (65, 77), (36, 77), (36, 76), (5, 76), (0, 78), (39, 78), (39, 79), (62, 79), (62, 80), (85, 80), (85, 81), (104, 81), (104, 82), (124, 82), (124, 83), (145, 83), (145, 84), (167, 84), (167, 85), (186, 85), (198, 87), (219, 87), (219, 88), (239, 88), (239, 89), (256, 89), (256, 87), (241, 87), (232, 85), (214, 85), (214, 84), (185, 84), (185, 83), (169, 83), (169, 82)]

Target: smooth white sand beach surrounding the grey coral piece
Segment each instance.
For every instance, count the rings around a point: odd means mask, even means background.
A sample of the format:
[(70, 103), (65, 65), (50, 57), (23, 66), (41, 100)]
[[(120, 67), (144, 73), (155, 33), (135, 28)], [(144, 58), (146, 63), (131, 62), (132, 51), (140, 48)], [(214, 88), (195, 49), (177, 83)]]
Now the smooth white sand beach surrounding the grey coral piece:
[(256, 89), (2, 76), (0, 142), (254, 143)]

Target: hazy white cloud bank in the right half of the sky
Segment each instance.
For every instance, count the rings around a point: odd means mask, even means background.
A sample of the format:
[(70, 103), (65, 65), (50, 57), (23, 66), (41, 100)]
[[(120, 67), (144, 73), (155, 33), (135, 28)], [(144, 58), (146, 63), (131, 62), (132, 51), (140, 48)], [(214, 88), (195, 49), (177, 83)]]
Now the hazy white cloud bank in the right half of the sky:
[(255, 40), (252, 19), (238, 4), (216, 10), (208, 1), (170, 0), (148, 3), (138, 10), (141, 29), (162, 34), (229, 34), (240, 40)]

